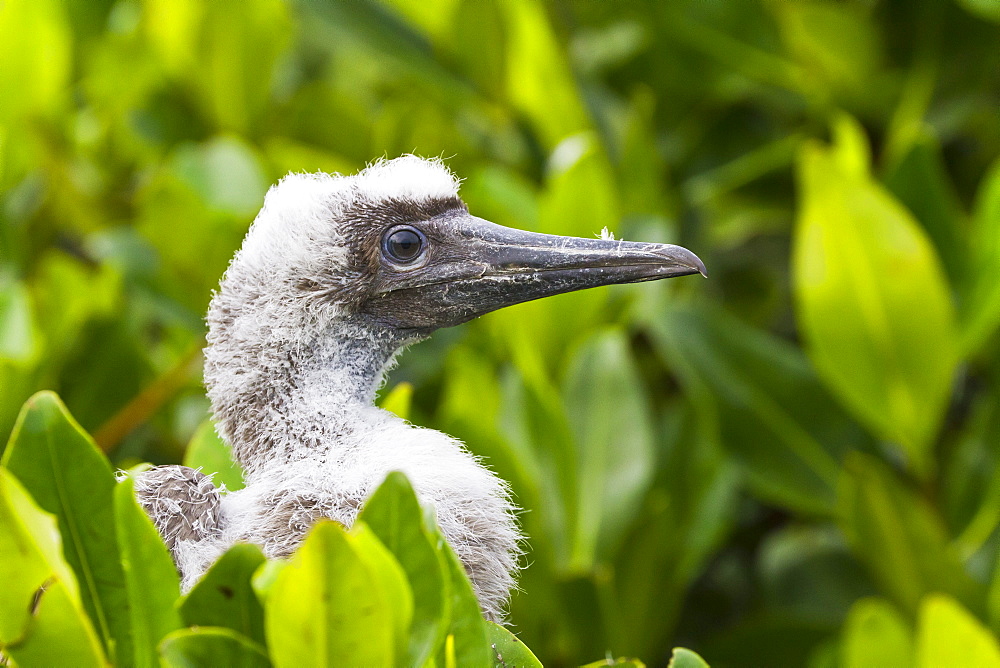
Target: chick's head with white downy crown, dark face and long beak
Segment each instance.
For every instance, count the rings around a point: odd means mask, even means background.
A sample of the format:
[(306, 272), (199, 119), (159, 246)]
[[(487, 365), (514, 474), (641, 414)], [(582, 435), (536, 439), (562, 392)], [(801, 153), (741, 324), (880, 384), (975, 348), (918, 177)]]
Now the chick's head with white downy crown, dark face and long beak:
[[(285, 177), (230, 272), (286, 302), (420, 338), (513, 304), (705, 273), (680, 246), (537, 234), (469, 213), (439, 161), (404, 156), (352, 176)], [(581, 193), (581, 197), (585, 197)]]

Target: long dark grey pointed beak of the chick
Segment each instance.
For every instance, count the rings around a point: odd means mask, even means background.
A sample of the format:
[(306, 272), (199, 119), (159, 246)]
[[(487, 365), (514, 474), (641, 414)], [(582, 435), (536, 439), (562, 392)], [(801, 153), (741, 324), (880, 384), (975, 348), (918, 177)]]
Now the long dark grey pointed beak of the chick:
[(396, 327), (450, 327), (564, 292), (707, 276), (697, 255), (671, 244), (538, 234), (464, 212), (429, 222), (423, 265), (386, 281), (373, 300), (379, 319)]

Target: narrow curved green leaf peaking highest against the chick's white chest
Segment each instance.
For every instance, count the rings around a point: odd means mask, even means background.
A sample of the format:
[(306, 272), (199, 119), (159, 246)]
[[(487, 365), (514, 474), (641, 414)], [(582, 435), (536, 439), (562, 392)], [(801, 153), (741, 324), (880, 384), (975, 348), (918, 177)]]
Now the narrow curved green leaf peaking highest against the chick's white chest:
[(423, 665), (444, 642), (449, 620), (449, 580), (443, 556), (435, 549), (433, 524), (424, 513), (406, 476), (396, 471), (365, 501), (358, 516), (392, 553), (413, 591), (413, 624), (408, 665)]

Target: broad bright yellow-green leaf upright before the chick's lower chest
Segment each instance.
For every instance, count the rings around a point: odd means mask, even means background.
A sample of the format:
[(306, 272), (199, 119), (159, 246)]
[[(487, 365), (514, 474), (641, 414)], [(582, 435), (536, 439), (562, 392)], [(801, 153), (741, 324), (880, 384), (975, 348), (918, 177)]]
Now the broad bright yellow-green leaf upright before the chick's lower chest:
[(319, 522), (277, 574), (264, 618), (275, 665), (393, 665), (405, 655), (405, 575), (370, 529), (355, 527)]

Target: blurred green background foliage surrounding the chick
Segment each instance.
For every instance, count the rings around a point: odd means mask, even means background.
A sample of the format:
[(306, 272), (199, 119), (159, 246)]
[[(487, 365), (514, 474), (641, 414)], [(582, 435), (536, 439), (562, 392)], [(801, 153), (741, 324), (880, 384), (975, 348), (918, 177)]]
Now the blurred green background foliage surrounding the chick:
[(681, 243), (711, 276), (492, 314), (387, 385), (511, 482), (512, 622), (546, 665), (998, 665), (998, 23), (0, 2), (0, 436), (52, 388), (118, 465), (183, 460), (203, 314), (268, 185), (442, 156), (479, 216)]

